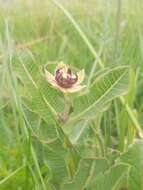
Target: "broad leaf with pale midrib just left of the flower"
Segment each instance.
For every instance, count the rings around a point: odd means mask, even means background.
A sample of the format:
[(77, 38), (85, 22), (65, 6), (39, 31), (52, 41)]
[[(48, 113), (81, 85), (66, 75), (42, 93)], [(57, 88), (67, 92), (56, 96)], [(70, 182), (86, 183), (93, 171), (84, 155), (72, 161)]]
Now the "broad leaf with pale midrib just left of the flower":
[[(64, 109), (62, 94), (51, 87), (43, 77), (42, 69), (35, 60), (19, 58), (15, 64), (16, 75), (24, 85), (23, 103), (28, 109), (40, 114), (48, 123), (54, 123), (59, 112)], [(21, 89), (20, 89), (21, 90)]]

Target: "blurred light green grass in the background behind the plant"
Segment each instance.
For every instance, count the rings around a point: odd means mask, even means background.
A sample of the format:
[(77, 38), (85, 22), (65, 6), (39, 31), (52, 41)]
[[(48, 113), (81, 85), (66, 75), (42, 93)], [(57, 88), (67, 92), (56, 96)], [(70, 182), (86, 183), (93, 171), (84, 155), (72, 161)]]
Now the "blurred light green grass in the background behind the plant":
[[(131, 92), (127, 97), (127, 101), (142, 127), (142, 0), (59, 0), (58, 2), (72, 15), (78, 27), (95, 48), (97, 57), (100, 56), (105, 67), (131, 66)], [(4, 64), (7, 61), (8, 51), (7, 28), (12, 40), (11, 49), (15, 50), (16, 48), (17, 51), (22, 52), (25, 49), (30, 50), (39, 65), (44, 65), (48, 61), (63, 60), (76, 68), (85, 68), (88, 76), (96, 60), (71, 20), (53, 1), (0, 1), (1, 179), (9, 176), (24, 159), (27, 159), (24, 157), (23, 150), (21, 150), (18, 143), (21, 139), (19, 139), (19, 132), (15, 126), (19, 126), (19, 118), (17, 118), (14, 104), (15, 96), (12, 90), (11, 77), (5, 80), (6, 76), (9, 75), (9, 70)], [(98, 70), (98, 68), (99, 65), (96, 69)], [(118, 103), (115, 102), (115, 104)], [(109, 137), (110, 128), (118, 127), (126, 120), (124, 111), (120, 113), (118, 108), (115, 111), (117, 111), (117, 117), (114, 121), (112, 112), (109, 111), (107, 116), (105, 115), (105, 122), (108, 118), (109, 125), (105, 142), (109, 146), (112, 143)], [(122, 140), (121, 138), (120, 141)], [(120, 149), (122, 150), (122, 148), (121, 145)], [(15, 188), (14, 185), (12, 187)], [(0, 189), (4, 189), (4, 187)]]

